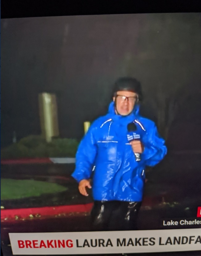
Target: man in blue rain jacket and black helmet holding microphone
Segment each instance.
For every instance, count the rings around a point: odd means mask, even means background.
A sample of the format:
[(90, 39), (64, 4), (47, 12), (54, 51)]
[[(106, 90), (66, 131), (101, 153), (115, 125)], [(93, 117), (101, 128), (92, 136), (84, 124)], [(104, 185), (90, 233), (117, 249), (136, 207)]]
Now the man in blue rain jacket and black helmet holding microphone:
[[(159, 163), (167, 151), (154, 122), (139, 115), (140, 83), (119, 78), (113, 93), (107, 115), (96, 119), (82, 139), (72, 174), (82, 195), (88, 196), (86, 188), (92, 188), (91, 223), (97, 231), (136, 229), (145, 167)], [(129, 142), (131, 123), (139, 139)]]

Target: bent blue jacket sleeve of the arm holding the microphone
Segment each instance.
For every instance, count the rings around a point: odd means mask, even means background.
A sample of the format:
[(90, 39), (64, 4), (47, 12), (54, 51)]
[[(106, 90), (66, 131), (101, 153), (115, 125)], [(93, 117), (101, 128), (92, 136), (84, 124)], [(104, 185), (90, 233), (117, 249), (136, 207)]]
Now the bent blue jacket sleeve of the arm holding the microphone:
[(146, 131), (143, 142), (144, 152), (142, 153), (142, 157), (145, 165), (154, 166), (167, 154), (165, 140), (158, 135), (157, 127), (154, 123)]

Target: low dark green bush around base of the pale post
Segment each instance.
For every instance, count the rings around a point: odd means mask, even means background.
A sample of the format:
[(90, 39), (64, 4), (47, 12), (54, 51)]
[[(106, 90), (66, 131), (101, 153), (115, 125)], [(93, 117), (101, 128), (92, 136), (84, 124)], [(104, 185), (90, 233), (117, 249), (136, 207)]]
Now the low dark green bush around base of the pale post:
[(30, 135), (1, 150), (1, 159), (26, 157), (75, 157), (78, 141), (54, 138), (46, 142), (42, 136)]

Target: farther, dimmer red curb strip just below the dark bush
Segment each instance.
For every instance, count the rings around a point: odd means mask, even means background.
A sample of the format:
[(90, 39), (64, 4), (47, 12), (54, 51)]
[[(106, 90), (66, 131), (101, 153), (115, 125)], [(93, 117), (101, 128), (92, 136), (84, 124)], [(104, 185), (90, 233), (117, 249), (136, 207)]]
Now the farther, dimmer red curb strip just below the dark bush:
[(2, 159), (1, 164), (52, 163), (50, 158)]

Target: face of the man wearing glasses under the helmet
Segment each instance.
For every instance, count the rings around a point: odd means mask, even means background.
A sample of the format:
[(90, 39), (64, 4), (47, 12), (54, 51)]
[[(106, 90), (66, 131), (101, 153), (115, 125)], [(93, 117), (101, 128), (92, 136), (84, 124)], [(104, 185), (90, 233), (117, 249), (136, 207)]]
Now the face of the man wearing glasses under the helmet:
[[(113, 97), (113, 101), (115, 101), (115, 97)], [(137, 93), (118, 91), (116, 93), (116, 112), (119, 115), (129, 115), (132, 112), (136, 101)]]

